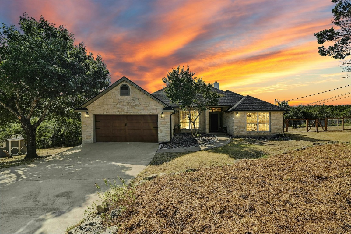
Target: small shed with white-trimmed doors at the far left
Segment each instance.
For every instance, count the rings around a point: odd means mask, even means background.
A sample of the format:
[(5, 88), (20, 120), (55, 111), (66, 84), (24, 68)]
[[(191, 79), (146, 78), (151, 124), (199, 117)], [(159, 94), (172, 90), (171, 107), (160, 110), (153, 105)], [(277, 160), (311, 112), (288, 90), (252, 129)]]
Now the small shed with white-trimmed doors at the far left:
[(3, 150), (7, 150), (10, 155), (27, 154), (27, 147), (25, 146), (23, 136), (17, 135), (7, 138), (3, 145), (0, 145), (0, 157), (6, 157)]

